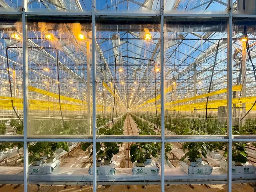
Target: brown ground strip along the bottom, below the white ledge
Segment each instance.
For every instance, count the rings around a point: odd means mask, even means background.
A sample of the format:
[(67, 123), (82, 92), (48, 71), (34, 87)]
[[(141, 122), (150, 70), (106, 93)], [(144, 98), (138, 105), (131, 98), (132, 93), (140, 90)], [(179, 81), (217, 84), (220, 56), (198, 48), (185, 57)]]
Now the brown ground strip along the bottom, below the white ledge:
[[(16, 189), (13, 188), (14, 185), (5, 185), (0, 188), (0, 192), (23, 192), (23, 186), (20, 186)], [(211, 185), (211, 188), (208, 189), (204, 185), (193, 185), (194, 189), (188, 185), (170, 185), (170, 188), (165, 187), (166, 192), (226, 192), (227, 185)], [(30, 192), (93, 192), (90, 186), (84, 186), (80, 190), (79, 186), (68, 186), (64, 189), (63, 186), (41, 186), (41, 189), (38, 191), (36, 185), (30, 185)], [(113, 185), (101, 189), (101, 186), (98, 186), (97, 192), (161, 192), (159, 185), (148, 185), (146, 189), (143, 189), (141, 185), (130, 185), (130, 188), (127, 189), (126, 185)], [(254, 192), (254, 189), (248, 184), (233, 184), (233, 192)]]

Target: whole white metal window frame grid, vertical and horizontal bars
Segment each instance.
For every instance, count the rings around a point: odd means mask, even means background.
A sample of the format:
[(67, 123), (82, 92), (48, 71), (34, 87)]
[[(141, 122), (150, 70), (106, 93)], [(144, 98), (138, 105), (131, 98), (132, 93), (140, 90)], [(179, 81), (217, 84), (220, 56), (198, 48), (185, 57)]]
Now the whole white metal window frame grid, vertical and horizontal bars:
[[(95, 0), (92, 1), (92, 11), (91, 12), (26, 12), (27, 10), (27, 0), (23, 0), (22, 2), (22, 12), (16, 11), (0, 11), (0, 15), (16, 15), (16, 16), (22, 16), (22, 32), (23, 32), (23, 85), (24, 85), (24, 90), (23, 90), (23, 105), (24, 105), (24, 135), (16, 135), (16, 136), (0, 136), (0, 141), (1, 142), (23, 142), (24, 143), (24, 191), (27, 192), (28, 190), (28, 185), (29, 185), (29, 175), (28, 175), (28, 147), (27, 147), (27, 142), (39, 142), (39, 141), (44, 141), (44, 142), (57, 142), (57, 141), (67, 141), (67, 142), (93, 142), (93, 147), (96, 146), (96, 142), (161, 142), (162, 144), (162, 156), (164, 156), (164, 145), (165, 142), (199, 142), (199, 141), (210, 141), (210, 142), (228, 142), (229, 143), (229, 152), (231, 151), (232, 147), (232, 141), (237, 142), (237, 141), (245, 141), (245, 142), (256, 142), (256, 136), (254, 135), (232, 135), (232, 116), (231, 116), (231, 110), (232, 110), (232, 20), (233, 18), (256, 18), (256, 15), (233, 15), (233, 2), (232, 0), (228, 0), (228, 9), (227, 9), (227, 14), (214, 14), (214, 15), (207, 15), (207, 14), (164, 14), (164, 0), (161, 0), (161, 10), (159, 14), (149, 14), (149, 13), (107, 13), (107, 12), (96, 12), (95, 11)], [(44, 137), (44, 136), (38, 136), (38, 137), (33, 137), (27, 135), (27, 127), (28, 127), (28, 67), (27, 67), (27, 16), (32, 16), (32, 15), (37, 15), (37, 16), (42, 16), (42, 15), (47, 15), (47, 16), (91, 16), (92, 17), (92, 87), (93, 87), (93, 136), (52, 136), (51, 138), (49, 137)], [(227, 29), (228, 29), (228, 36), (227, 36), (227, 68), (228, 68), (228, 81), (227, 81), (227, 86), (228, 86), (228, 91), (227, 91), (227, 127), (228, 127), (228, 133), (227, 135), (223, 136), (165, 136), (162, 134), (161, 136), (109, 136), (109, 137), (103, 137), (100, 136), (99, 138), (96, 137), (96, 86), (95, 86), (95, 80), (96, 80), (96, 55), (95, 55), (95, 50), (96, 50), (96, 40), (95, 40), (95, 17), (97, 16), (159, 16), (161, 20), (161, 69), (165, 68), (165, 62), (164, 62), (164, 18), (165, 17), (190, 17), (190, 18), (228, 18), (228, 24), (227, 24)], [(165, 70), (161, 70), (161, 82), (165, 81)], [(165, 117), (165, 110), (164, 110), (164, 83), (161, 83), (161, 131), (162, 133), (164, 132), (164, 117)], [(228, 191), (231, 192), (231, 153), (228, 154), (229, 161), (228, 161)], [(161, 160), (161, 170), (164, 172), (164, 158)], [(97, 175), (96, 175), (96, 151), (93, 150), (93, 170), (94, 170), (94, 180), (93, 180), (93, 191), (97, 191)], [(16, 181), (13, 181), (15, 183)], [(204, 182), (200, 182), (204, 184)], [(47, 184), (51, 184), (50, 182)], [(121, 184), (121, 183), (120, 183)], [(125, 182), (123, 184), (126, 184)], [(129, 182), (129, 184), (131, 184)], [(137, 183), (136, 183), (137, 184)], [(153, 183), (152, 183), (153, 184)], [(156, 182), (155, 184), (159, 184), (159, 182)], [(165, 182), (165, 177), (164, 174), (161, 174), (161, 191), (164, 192), (164, 186), (165, 184), (176, 184), (175, 182)], [(187, 184), (184, 182), (184, 184)]]

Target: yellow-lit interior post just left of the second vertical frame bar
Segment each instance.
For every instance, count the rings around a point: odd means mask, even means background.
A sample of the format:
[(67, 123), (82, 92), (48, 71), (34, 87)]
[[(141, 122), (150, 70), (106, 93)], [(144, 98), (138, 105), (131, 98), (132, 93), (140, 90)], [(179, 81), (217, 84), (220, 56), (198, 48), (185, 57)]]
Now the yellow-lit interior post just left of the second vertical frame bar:
[(91, 135), (91, 66), (90, 66), (90, 41), (86, 42), (87, 57), (87, 124), (88, 133)]

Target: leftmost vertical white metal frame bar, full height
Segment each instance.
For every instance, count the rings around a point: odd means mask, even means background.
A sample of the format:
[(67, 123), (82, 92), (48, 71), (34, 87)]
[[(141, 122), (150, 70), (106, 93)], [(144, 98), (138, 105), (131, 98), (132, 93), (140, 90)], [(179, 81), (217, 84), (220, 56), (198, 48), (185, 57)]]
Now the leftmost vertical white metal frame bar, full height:
[(29, 122), (29, 80), (27, 63), (27, 0), (22, 1), (22, 62), (23, 62), (23, 150), (24, 150), (24, 192), (29, 188), (29, 148), (27, 146), (27, 127)]

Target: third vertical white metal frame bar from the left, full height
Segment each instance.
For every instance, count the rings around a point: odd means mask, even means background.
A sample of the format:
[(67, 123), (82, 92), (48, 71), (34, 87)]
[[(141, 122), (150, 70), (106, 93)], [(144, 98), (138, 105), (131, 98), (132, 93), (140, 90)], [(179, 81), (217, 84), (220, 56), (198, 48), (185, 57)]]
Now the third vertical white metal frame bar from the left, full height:
[(161, 82), (161, 192), (165, 191), (165, 64), (164, 64), (164, 39), (163, 39), (163, 0), (160, 1), (160, 9), (161, 9), (161, 46), (160, 46), (160, 58), (161, 58), (161, 64), (160, 64), (160, 82)]

